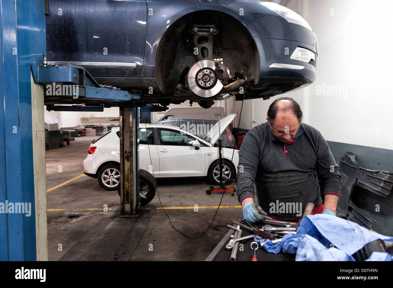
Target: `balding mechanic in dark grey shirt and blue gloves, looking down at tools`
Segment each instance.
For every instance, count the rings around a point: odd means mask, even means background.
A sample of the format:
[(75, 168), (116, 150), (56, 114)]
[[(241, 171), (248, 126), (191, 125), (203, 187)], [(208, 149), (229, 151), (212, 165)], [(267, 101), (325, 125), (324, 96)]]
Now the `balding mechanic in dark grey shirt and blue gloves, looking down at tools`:
[[(270, 105), (268, 121), (246, 133), (236, 177), (244, 220), (253, 223), (268, 215), (297, 222), (308, 202), (314, 203), (312, 214), (336, 216), (339, 166), (321, 133), (301, 123), (302, 117), (294, 99), (281, 97)], [(254, 182), (259, 206), (254, 203)]]

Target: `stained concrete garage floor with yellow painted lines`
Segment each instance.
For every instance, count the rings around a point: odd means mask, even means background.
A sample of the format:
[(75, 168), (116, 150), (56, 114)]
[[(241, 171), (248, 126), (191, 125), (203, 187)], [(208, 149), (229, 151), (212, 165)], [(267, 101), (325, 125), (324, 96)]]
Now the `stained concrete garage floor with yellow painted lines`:
[[(242, 216), (237, 195), (224, 195), (211, 228), (199, 239), (187, 239), (172, 228), (158, 199), (143, 206), (139, 217), (118, 217), (120, 198), (97, 179), (83, 175), (83, 160), (90, 142), (97, 137), (75, 137), (69, 146), (46, 151), (49, 260), (116, 260), (113, 254), (123, 243), (123, 254), (142, 261), (203, 261), (226, 234), (229, 219)], [(83, 176), (82, 176), (83, 175)], [(158, 193), (173, 226), (189, 237), (199, 237), (211, 223), (222, 194), (206, 194), (206, 178), (157, 179)], [(236, 186), (232, 183), (230, 186)], [(107, 205), (108, 211), (103, 209)], [(227, 207), (226, 207), (227, 206)], [(238, 207), (228, 207), (238, 206)], [(150, 221), (149, 221), (150, 219)], [(135, 222), (147, 224), (137, 231)], [(133, 228), (134, 227), (134, 228)], [(139, 239), (138, 233), (141, 234)], [(75, 244), (75, 245), (74, 245)], [(69, 251), (68, 251), (69, 250)], [(115, 255), (116, 256), (116, 255)]]

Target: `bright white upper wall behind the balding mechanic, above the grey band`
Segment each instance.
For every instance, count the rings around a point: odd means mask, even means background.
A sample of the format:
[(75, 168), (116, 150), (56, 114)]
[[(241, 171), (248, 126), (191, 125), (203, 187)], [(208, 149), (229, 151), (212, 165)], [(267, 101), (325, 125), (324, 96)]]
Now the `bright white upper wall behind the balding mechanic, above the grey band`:
[[(309, 9), (303, 14), (307, 18), (308, 12), (318, 37), (317, 78), (282, 96), (298, 101), (303, 122), (320, 130), (326, 140), (393, 149), (393, 1), (303, 0), (303, 9), (307, 2)], [(291, 0), (287, 7), (299, 12), (301, 5), (296, 4)], [(280, 96), (255, 100), (257, 125), (266, 122), (268, 106)], [(241, 128), (251, 128), (250, 102), (244, 101)], [(240, 111), (241, 102), (236, 106)]]

